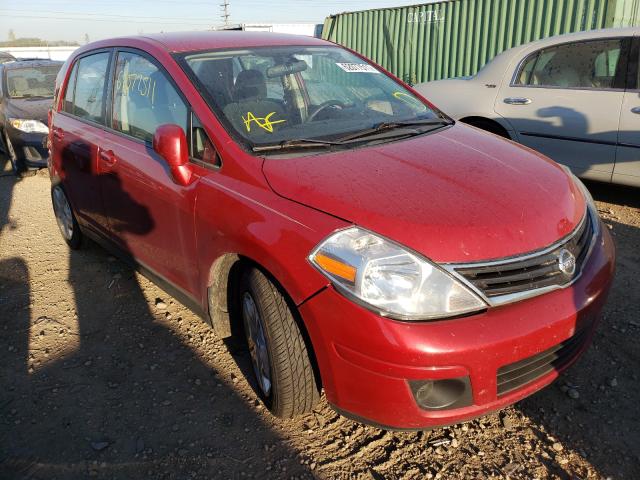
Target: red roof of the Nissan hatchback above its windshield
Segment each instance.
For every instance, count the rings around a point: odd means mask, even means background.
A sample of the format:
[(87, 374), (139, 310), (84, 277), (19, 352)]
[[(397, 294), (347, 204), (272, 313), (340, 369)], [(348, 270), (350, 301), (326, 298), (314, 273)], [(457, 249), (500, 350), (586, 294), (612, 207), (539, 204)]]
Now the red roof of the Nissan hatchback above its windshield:
[(141, 44), (160, 46), (170, 53), (215, 50), (223, 48), (252, 48), (262, 46), (322, 46), (333, 45), (331, 42), (302, 35), (287, 35), (271, 32), (243, 31), (204, 31), (204, 32), (171, 32), (145, 34), (141, 36), (118, 37), (91, 43), (82, 51)]

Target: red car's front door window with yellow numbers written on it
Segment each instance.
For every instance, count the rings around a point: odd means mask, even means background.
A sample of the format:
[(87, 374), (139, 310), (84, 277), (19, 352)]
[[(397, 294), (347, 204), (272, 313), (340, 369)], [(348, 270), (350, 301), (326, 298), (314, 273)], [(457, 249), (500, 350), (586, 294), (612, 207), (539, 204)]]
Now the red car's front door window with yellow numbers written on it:
[(142, 55), (119, 52), (113, 89), (112, 127), (151, 142), (160, 125), (175, 124), (187, 133), (187, 106), (162, 72)]

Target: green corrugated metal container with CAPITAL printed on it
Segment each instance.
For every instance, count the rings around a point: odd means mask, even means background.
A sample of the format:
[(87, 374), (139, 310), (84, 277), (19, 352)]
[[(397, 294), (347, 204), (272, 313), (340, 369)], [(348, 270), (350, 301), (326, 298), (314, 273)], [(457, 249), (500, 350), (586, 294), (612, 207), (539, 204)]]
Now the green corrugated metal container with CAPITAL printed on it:
[(327, 17), (322, 38), (409, 83), (475, 74), (498, 53), (561, 33), (638, 25), (640, 0), (450, 0)]

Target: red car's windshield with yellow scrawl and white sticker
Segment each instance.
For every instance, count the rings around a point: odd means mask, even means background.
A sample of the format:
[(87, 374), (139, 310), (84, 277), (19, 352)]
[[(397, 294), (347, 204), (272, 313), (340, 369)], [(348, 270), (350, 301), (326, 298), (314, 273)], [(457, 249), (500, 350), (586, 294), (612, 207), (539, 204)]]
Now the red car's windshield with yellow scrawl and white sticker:
[(218, 118), (254, 150), (334, 141), (382, 124), (442, 121), (400, 84), (340, 47), (260, 47), (184, 60)]

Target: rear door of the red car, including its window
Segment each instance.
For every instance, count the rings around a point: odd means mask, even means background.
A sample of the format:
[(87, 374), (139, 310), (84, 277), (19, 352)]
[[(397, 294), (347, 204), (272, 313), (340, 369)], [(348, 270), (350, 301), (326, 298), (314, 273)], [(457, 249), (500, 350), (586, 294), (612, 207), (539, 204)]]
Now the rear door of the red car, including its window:
[(62, 109), (52, 122), (52, 153), (78, 221), (108, 234), (97, 168), (106, 130), (111, 50), (90, 52), (73, 65)]

